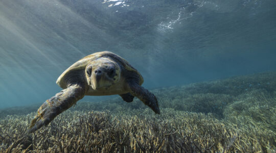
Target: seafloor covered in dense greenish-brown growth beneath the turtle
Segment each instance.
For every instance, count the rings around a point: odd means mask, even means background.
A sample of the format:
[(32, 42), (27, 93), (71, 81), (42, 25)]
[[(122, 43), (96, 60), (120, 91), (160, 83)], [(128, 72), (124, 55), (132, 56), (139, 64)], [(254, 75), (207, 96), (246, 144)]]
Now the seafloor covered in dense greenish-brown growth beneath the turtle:
[(276, 72), (152, 92), (161, 115), (138, 99), (79, 102), (34, 134), (39, 105), (0, 110), (0, 152), (276, 151)]

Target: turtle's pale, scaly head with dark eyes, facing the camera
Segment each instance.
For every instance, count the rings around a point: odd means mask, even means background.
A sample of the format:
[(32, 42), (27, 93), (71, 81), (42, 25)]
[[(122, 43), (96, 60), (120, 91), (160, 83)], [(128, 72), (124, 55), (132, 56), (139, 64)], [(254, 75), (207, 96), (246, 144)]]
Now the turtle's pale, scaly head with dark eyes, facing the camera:
[(120, 66), (108, 58), (91, 61), (85, 68), (86, 80), (94, 90), (117, 83), (121, 77)]

